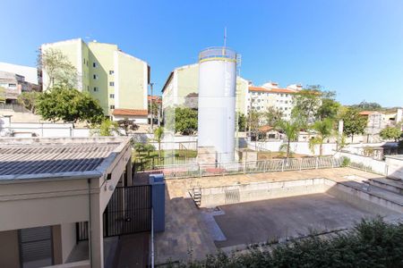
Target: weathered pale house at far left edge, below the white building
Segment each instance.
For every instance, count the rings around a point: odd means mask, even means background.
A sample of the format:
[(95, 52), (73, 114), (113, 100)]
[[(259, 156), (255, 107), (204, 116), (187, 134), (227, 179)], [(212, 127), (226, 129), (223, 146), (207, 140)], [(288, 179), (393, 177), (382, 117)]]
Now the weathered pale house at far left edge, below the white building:
[(39, 86), (26, 81), (24, 76), (1, 70), (0, 88), (0, 102), (6, 104), (17, 103), (18, 96), (20, 96), (22, 92), (29, 92), (31, 90), (39, 91)]

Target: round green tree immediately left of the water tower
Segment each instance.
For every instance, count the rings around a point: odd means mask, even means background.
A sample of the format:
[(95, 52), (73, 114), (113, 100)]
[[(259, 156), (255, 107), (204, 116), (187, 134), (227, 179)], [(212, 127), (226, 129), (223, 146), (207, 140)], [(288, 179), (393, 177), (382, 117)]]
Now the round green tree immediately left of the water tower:
[(176, 107), (175, 131), (182, 135), (193, 135), (197, 131), (197, 111), (187, 107)]

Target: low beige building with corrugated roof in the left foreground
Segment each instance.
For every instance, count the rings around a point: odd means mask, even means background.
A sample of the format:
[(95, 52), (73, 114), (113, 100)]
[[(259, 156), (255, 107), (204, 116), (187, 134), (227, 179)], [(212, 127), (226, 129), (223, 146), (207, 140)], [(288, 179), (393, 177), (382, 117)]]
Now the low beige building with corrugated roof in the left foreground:
[[(104, 267), (103, 213), (116, 187), (132, 183), (130, 139), (0, 144), (0, 267)], [(79, 241), (84, 222), (88, 241)]]

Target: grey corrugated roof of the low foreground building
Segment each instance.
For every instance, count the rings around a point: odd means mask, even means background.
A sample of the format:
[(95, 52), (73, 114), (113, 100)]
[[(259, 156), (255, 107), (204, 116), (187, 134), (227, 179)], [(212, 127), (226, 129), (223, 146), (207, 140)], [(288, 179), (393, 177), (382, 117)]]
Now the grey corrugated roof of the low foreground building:
[(0, 176), (95, 171), (119, 145), (119, 142), (2, 144)]

